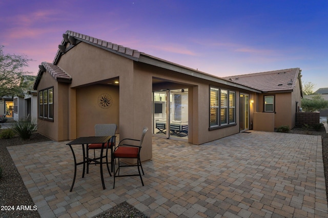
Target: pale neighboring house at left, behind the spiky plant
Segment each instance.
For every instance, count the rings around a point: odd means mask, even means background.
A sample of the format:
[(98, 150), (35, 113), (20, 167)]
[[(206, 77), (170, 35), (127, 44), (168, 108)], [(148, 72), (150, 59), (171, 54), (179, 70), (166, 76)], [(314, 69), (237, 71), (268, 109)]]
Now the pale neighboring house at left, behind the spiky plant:
[(28, 91), (24, 96), (14, 96), (13, 102), (14, 120), (37, 120), (37, 91)]

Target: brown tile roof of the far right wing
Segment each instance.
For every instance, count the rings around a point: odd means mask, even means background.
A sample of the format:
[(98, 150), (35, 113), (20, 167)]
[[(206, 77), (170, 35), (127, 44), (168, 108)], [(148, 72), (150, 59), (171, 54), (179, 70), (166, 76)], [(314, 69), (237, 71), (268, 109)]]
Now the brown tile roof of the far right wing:
[(300, 73), (300, 68), (291, 68), (223, 77), (223, 79), (261, 91), (293, 91)]

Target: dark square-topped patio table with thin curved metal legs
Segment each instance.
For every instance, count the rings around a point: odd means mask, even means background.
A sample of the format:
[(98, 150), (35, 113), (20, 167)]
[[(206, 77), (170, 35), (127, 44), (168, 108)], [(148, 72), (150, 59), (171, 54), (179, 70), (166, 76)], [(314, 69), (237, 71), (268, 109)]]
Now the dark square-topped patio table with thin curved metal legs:
[[(108, 161), (107, 161), (107, 152), (106, 155), (103, 155), (104, 153), (104, 148), (105, 148), (105, 144), (107, 144), (107, 148), (109, 146), (109, 141), (111, 140), (111, 138), (115, 138), (113, 136), (91, 136), (91, 137), (80, 137), (77, 138), (73, 141), (70, 141), (67, 143), (67, 145), (70, 147), (72, 154), (73, 154), (73, 158), (74, 158), (74, 178), (73, 178), (73, 182), (71, 185), (71, 189), (70, 191), (72, 191), (74, 183), (75, 183), (75, 178), (76, 178), (76, 166), (83, 164), (83, 173), (82, 173), (82, 178), (84, 178), (84, 174), (85, 174), (85, 169), (86, 169), (86, 163), (90, 162), (90, 161), (97, 161), (100, 164), (100, 176), (101, 176), (101, 183), (103, 184), (103, 188), (105, 189), (105, 182), (104, 182), (104, 175), (103, 175), (103, 159), (106, 158), (106, 162), (107, 162), (107, 169), (108, 169), (108, 173), (110, 176), (112, 176), (109, 167), (108, 167)], [(100, 150), (100, 157), (97, 158), (97, 160), (94, 159), (90, 159), (86, 156), (86, 152), (85, 152), (85, 146), (88, 146), (88, 144), (92, 144), (92, 143), (101, 143), (101, 150)], [(74, 144), (81, 144), (82, 146), (82, 151), (83, 151), (83, 161), (81, 162), (76, 162), (76, 157), (75, 157), (75, 153), (73, 150), (72, 145)], [(108, 150), (108, 149), (107, 149)], [(99, 161), (98, 161), (99, 160)]]

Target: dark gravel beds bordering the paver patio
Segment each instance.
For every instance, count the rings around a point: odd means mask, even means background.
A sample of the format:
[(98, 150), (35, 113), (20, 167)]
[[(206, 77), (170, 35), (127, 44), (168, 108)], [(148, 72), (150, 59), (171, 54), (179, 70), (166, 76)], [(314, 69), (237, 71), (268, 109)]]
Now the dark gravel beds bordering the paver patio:
[[(301, 128), (294, 128), (291, 133), (296, 134), (311, 134), (322, 136), (322, 153), (324, 176), (326, 181), (326, 190), (328, 190), (328, 134), (325, 133), (324, 128), (322, 131), (303, 130)], [(20, 177), (16, 166), (14, 165), (6, 147), (17, 146), (19, 144), (36, 143), (48, 141), (49, 138), (34, 133), (30, 140), (23, 141), (19, 137), (11, 139), (0, 139), (0, 165), (3, 167), (3, 177), (0, 179), (0, 217), (40, 217), (36, 210), (33, 210), (34, 203)], [(328, 199), (328, 192), (327, 192)], [(30, 206), (31, 210), (17, 210), (17, 206)], [(10, 208), (3, 208), (5, 206), (14, 206), (14, 210)], [(7, 209), (7, 210), (4, 210)], [(147, 217), (138, 211), (133, 206), (123, 202), (116, 207), (96, 216), (97, 218), (104, 217)]]

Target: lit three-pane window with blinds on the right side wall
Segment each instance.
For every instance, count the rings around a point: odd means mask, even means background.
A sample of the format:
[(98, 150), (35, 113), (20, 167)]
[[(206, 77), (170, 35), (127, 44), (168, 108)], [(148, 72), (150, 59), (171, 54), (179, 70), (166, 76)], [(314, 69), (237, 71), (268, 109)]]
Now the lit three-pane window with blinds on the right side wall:
[(236, 123), (236, 93), (210, 88), (210, 128)]

